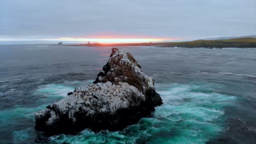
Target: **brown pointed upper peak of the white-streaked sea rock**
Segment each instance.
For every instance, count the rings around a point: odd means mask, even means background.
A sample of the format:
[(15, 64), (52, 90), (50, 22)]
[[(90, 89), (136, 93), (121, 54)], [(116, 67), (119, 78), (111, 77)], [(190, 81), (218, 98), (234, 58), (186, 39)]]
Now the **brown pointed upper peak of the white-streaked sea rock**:
[(96, 83), (110, 81), (118, 84), (119, 82), (127, 82), (143, 92), (155, 90), (153, 78), (142, 72), (141, 65), (125, 49), (112, 48), (109, 61), (104, 65), (103, 70), (105, 75), (97, 77)]

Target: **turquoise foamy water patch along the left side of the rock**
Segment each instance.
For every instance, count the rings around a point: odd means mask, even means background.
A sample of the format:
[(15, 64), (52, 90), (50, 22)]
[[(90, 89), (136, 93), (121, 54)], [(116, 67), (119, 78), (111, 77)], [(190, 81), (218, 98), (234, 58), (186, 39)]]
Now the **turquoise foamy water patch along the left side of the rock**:
[[(51, 83), (39, 86), (32, 93), (34, 96), (34, 104), (32, 106), (14, 105), (10, 109), (0, 111), (0, 135), (12, 137), (14, 143), (33, 143), (34, 137), (36, 137), (36, 131), (33, 128), (34, 113), (65, 97), (68, 92), (73, 91), (74, 87), (84, 87), (88, 83), (91, 83), (91, 80), (66, 81), (60, 84)], [(14, 91), (15, 89), (11, 90)], [(10, 131), (10, 129), (13, 131)]]

